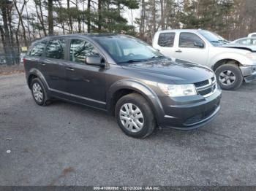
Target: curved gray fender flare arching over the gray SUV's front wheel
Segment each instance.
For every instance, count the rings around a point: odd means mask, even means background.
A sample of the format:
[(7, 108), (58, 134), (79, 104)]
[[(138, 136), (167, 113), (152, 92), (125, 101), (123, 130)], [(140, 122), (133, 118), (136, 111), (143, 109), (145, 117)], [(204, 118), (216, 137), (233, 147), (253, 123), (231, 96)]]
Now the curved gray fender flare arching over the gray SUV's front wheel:
[(162, 117), (164, 115), (164, 110), (157, 94), (154, 93), (154, 91), (150, 87), (148, 87), (148, 85), (134, 79), (121, 79), (110, 86), (107, 93), (108, 111), (111, 111), (110, 103), (113, 98), (113, 95), (118, 90), (124, 90), (124, 89), (134, 90), (135, 92), (143, 95), (143, 97), (146, 98), (146, 100), (150, 104), (151, 109), (153, 109), (153, 112), (155, 114), (155, 117), (157, 117), (157, 119), (159, 119), (159, 117)]

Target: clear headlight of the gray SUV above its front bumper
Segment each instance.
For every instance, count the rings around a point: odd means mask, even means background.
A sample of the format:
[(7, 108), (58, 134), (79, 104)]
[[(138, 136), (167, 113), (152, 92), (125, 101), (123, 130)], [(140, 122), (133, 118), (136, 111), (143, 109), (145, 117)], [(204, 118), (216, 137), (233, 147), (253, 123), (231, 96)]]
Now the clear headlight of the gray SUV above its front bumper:
[(170, 97), (197, 95), (195, 85), (166, 85), (159, 83), (158, 86), (163, 93)]

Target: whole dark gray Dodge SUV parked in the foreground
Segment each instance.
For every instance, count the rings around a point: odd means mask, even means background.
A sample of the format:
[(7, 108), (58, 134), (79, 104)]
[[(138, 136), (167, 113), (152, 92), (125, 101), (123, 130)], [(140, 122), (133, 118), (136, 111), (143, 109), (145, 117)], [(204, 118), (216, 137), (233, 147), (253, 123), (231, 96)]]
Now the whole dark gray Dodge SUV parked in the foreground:
[(135, 138), (158, 126), (197, 128), (220, 108), (211, 69), (175, 63), (132, 36), (45, 37), (31, 45), (24, 66), (38, 105), (57, 98), (104, 110)]

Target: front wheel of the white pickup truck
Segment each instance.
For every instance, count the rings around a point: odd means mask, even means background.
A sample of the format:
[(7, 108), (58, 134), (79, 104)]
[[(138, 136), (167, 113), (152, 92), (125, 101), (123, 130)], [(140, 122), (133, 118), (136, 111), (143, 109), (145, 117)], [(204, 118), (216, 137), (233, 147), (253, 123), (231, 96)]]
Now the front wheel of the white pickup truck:
[(215, 71), (217, 82), (223, 90), (236, 90), (244, 81), (241, 70), (235, 64), (224, 64)]

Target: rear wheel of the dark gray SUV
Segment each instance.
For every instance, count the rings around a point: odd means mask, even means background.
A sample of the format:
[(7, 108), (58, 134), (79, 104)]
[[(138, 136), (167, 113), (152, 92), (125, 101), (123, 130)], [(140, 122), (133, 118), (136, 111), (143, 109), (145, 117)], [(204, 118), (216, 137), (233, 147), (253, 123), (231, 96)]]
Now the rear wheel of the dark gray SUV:
[(34, 101), (39, 106), (47, 106), (50, 102), (48, 95), (46, 93), (45, 87), (39, 78), (34, 78), (30, 84), (31, 93), (33, 95)]

